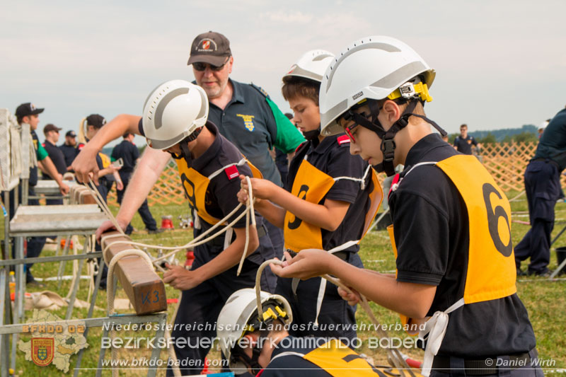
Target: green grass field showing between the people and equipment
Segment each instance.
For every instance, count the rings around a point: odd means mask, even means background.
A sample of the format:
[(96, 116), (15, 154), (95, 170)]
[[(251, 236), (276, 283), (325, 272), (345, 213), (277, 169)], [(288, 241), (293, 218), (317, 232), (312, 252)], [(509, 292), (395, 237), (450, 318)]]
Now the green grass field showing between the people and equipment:
[[(509, 198), (516, 196), (516, 192), (510, 192), (508, 194)], [(116, 208), (112, 209), (117, 211)], [(161, 215), (173, 215), (174, 224), (178, 226), (178, 216), (187, 214), (187, 207), (185, 206), (161, 206), (151, 208), (154, 217), (158, 222), (161, 221)], [(512, 219), (519, 221), (528, 221), (528, 216), (526, 216), (526, 201), (524, 197), (520, 197), (518, 200), (512, 202), (512, 211), (514, 212)], [(555, 208), (556, 211), (556, 226), (553, 236), (562, 229), (566, 224), (566, 204), (560, 203)], [(135, 216), (132, 223), (135, 228), (143, 229), (144, 225), (138, 215)], [(3, 228), (3, 226), (2, 226)], [(512, 239), (513, 243), (516, 244), (521, 240), (521, 237), (529, 229), (529, 226), (522, 224), (512, 224)], [(4, 231), (2, 230), (2, 233)], [(168, 231), (167, 233), (161, 233), (158, 235), (149, 235), (143, 231), (136, 232), (133, 234), (132, 238), (134, 240), (139, 240), (144, 243), (150, 243), (154, 245), (183, 245), (187, 243), (192, 238), (192, 231), (175, 229), (174, 231)], [(566, 235), (562, 236), (555, 244), (555, 246), (566, 245)], [(374, 269), (379, 272), (392, 272), (395, 269), (395, 260), (393, 258), (393, 253), (391, 252), (391, 245), (389, 243), (388, 235), (385, 231), (374, 231), (371, 232), (362, 241), (362, 250), (360, 252), (362, 260), (366, 268)], [(44, 250), (42, 255), (54, 255), (53, 251)], [(178, 259), (180, 261), (184, 260), (183, 253), (178, 254)], [(58, 263), (42, 263), (37, 264), (33, 267), (33, 274), (35, 277), (53, 277), (57, 275)], [(556, 267), (555, 253), (552, 251), (550, 268)], [(71, 274), (71, 263), (67, 263), (67, 269), (65, 274)], [(86, 274), (86, 268), (83, 269), (81, 274)], [(56, 282), (47, 282), (46, 289), (50, 291), (57, 291), (60, 296), (66, 296), (69, 291), (70, 282), (64, 282), (62, 289), (57, 289)], [(85, 280), (81, 281), (81, 289), (78, 293), (78, 298), (81, 300), (87, 300), (88, 283)], [(517, 288), (519, 291), (519, 297), (524, 302), (527, 310), (529, 311), (529, 316), (531, 318), (531, 323), (535, 330), (537, 338), (537, 348), (539, 356), (541, 359), (553, 359), (555, 360), (555, 368), (566, 368), (566, 281), (558, 280), (555, 282), (549, 282), (548, 279), (543, 279), (540, 277), (526, 277), (519, 279), (517, 283)], [(30, 289), (29, 291), (37, 291), (42, 289)], [(178, 291), (167, 287), (168, 298), (177, 298)], [(121, 289), (117, 291), (117, 297), (125, 298), (125, 294)], [(102, 291), (98, 295), (96, 300), (96, 306), (101, 308), (95, 311), (94, 315), (97, 317), (102, 317), (105, 315), (104, 308), (106, 308), (106, 292)], [(385, 308), (381, 308), (371, 303), (377, 318), (381, 321), (383, 325), (394, 326), (398, 323), (398, 316)], [(173, 314), (174, 305), (168, 307), (168, 315), (171, 317)], [(55, 315), (60, 318), (64, 318), (66, 308), (62, 308), (59, 311), (52, 311)], [(127, 311), (122, 311), (122, 313), (127, 313)], [(86, 309), (74, 310), (74, 318), (85, 318)], [(26, 312), (26, 317), (31, 317), (31, 312)], [(368, 316), (363, 311), (358, 310), (357, 313), (358, 323), (370, 323)], [(88, 334), (88, 348), (83, 354), (82, 368), (96, 368), (98, 362), (98, 353), (100, 352), (100, 328), (93, 328), (89, 330)], [(386, 352), (380, 348), (370, 348), (369, 341), (370, 338), (376, 337), (376, 335), (369, 331), (359, 331), (360, 339), (362, 340), (362, 348), (360, 352), (364, 352), (369, 356), (374, 358), (376, 364), (383, 364), (386, 362)], [(398, 337), (400, 339), (405, 339), (408, 335), (403, 331), (390, 331), (392, 337)], [(118, 335), (120, 337), (151, 337), (153, 336), (150, 332), (120, 332)], [(486, 336), (490, 336), (486, 334)], [(21, 337), (23, 340), (29, 340), (29, 336)], [(413, 356), (415, 359), (422, 360), (422, 350), (420, 349), (402, 349), (402, 352)], [(132, 359), (141, 356), (146, 356), (149, 359), (151, 354), (151, 349), (120, 349), (118, 355), (120, 358)], [(107, 352), (107, 358), (109, 353)], [(162, 359), (166, 359), (166, 352), (161, 353)], [(219, 359), (219, 352), (213, 351), (209, 354), (209, 359), (215, 360)], [(76, 356), (71, 357), (71, 366), (69, 370), (69, 375), (72, 373), (74, 368), (74, 362), (76, 361)], [(21, 376), (61, 376), (63, 373), (57, 370), (53, 365), (41, 368), (33, 364), (31, 361), (25, 361), (23, 352), (17, 353), (17, 369), (16, 374)], [(95, 371), (85, 370), (81, 371), (81, 376), (93, 376)], [(128, 369), (127, 371), (121, 371), (123, 376), (145, 376), (146, 370), (144, 369)], [(103, 376), (110, 376), (110, 371), (104, 371)], [(165, 376), (163, 370), (158, 371), (158, 376)]]

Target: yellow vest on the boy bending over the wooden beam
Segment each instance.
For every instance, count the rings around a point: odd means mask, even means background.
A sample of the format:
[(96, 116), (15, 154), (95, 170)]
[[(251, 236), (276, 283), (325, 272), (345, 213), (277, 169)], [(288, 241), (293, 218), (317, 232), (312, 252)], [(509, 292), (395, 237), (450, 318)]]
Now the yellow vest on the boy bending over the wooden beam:
[(197, 172), (197, 170), (193, 169), (192, 167), (189, 168), (189, 166), (187, 166), (187, 161), (185, 161), (185, 158), (179, 158), (175, 161), (177, 162), (181, 184), (185, 189), (185, 195), (187, 195), (190, 207), (192, 207), (192, 209), (197, 212), (201, 219), (207, 221), (208, 224), (212, 225), (215, 225), (221, 220), (209, 214), (206, 207), (208, 185), (210, 184), (211, 180), (216, 177), (216, 175), (219, 175), (224, 170), (231, 168), (232, 166), (243, 166), (247, 163), (250, 170), (252, 170), (253, 177), (262, 178), (260, 170), (258, 170), (258, 168), (255, 168), (255, 166), (247, 161), (246, 158), (242, 158), (237, 163), (231, 163), (230, 165), (223, 166), (207, 177)]

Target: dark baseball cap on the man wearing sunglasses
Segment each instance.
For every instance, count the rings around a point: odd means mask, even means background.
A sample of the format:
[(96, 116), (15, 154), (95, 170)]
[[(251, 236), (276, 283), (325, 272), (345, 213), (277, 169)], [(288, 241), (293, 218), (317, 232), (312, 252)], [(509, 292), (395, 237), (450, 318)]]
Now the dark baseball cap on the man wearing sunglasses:
[(190, 57), (187, 65), (192, 63), (208, 63), (221, 66), (226, 57), (232, 55), (230, 41), (220, 33), (209, 31), (197, 35), (190, 47)]

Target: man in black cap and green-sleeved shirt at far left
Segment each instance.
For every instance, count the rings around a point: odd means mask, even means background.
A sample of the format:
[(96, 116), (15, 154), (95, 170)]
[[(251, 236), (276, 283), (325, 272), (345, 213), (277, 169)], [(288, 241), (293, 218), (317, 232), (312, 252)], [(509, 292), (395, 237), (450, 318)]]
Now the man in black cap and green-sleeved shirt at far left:
[[(39, 114), (43, 112), (44, 109), (36, 108), (33, 103), (22, 103), (16, 109), (16, 118), (18, 120), (18, 124), (29, 124), (30, 125), (30, 136), (33, 141), (33, 149), (30, 151), (30, 178), (28, 179), (28, 197), (35, 197), (35, 190), (34, 186), (37, 185), (37, 165), (41, 166), (42, 171), (45, 171), (49, 174), (54, 180), (57, 181), (57, 185), (59, 185), (59, 191), (62, 195), (67, 195), (69, 192), (69, 186), (67, 186), (62, 179), (62, 176), (57, 173), (57, 168), (55, 168), (51, 158), (48, 156), (47, 151), (45, 148), (40, 144), (39, 139), (37, 139), (37, 134), (35, 134), (35, 130), (37, 129), (37, 125), (39, 124)], [(37, 162), (36, 162), (37, 161)], [(14, 189), (16, 190), (16, 189)], [(10, 219), (12, 219), (16, 206), (14, 203), (14, 190), (10, 192)], [(18, 185), (18, 199), (21, 204), (21, 185)], [(30, 206), (37, 206), (39, 205), (39, 200), (37, 199), (28, 199), (28, 205)], [(31, 237), (28, 238), (28, 253), (26, 257), (38, 257), (41, 253), (41, 250), (45, 245), (45, 237)], [(27, 284), (36, 284), (42, 285), (33, 279), (33, 275), (30, 272), (30, 268), (33, 264), (27, 264), (26, 267), (26, 276), (25, 281)]]

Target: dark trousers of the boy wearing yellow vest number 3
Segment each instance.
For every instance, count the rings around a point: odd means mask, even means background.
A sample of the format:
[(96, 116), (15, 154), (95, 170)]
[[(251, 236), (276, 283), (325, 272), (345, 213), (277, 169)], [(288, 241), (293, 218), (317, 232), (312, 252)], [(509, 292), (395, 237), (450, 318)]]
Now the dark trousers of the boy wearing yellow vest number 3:
[[(362, 260), (357, 253), (346, 253), (346, 262), (350, 265), (364, 268)], [(348, 339), (354, 339), (356, 335), (356, 330), (354, 330), (353, 325), (356, 323), (356, 306), (348, 305), (339, 294), (337, 286), (327, 282), (326, 290), (323, 297), (323, 303), (320, 307), (320, 314), (318, 315), (318, 330), (313, 329), (313, 323), (316, 318), (316, 299), (310, 299), (308, 301), (300, 301), (301, 291), (306, 292), (318, 292), (320, 287), (320, 277), (313, 277), (307, 280), (301, 280), (297, 286), (298, 294), (294, 294), (292, 289), (293, 279), (279, 277), (277, 279), (277, 287), (275, 288), (275, 293), (280, 294), (283, 297), (287, 297), (289, 305), (291, 305), (291, 310), (293, 311), (293, 323), (300, 323), (304, 325), (304, 329), (295, 330), (293, 327), (289, 328), (289, 334), (294, 337), (306, 337), (306, 336), (316, 336), (316, 337), (347, 337)], [(312, 294), (310, 295), (310, 297)], [(309, 297), (308, 294), (302, 295), (302, 297)], [(329, 330), (328, 325), (342, 325), (344, 327), (350, 327), (349, 330), (337, 329)], [(310, 329), (308, 325), (311, 325)]]

